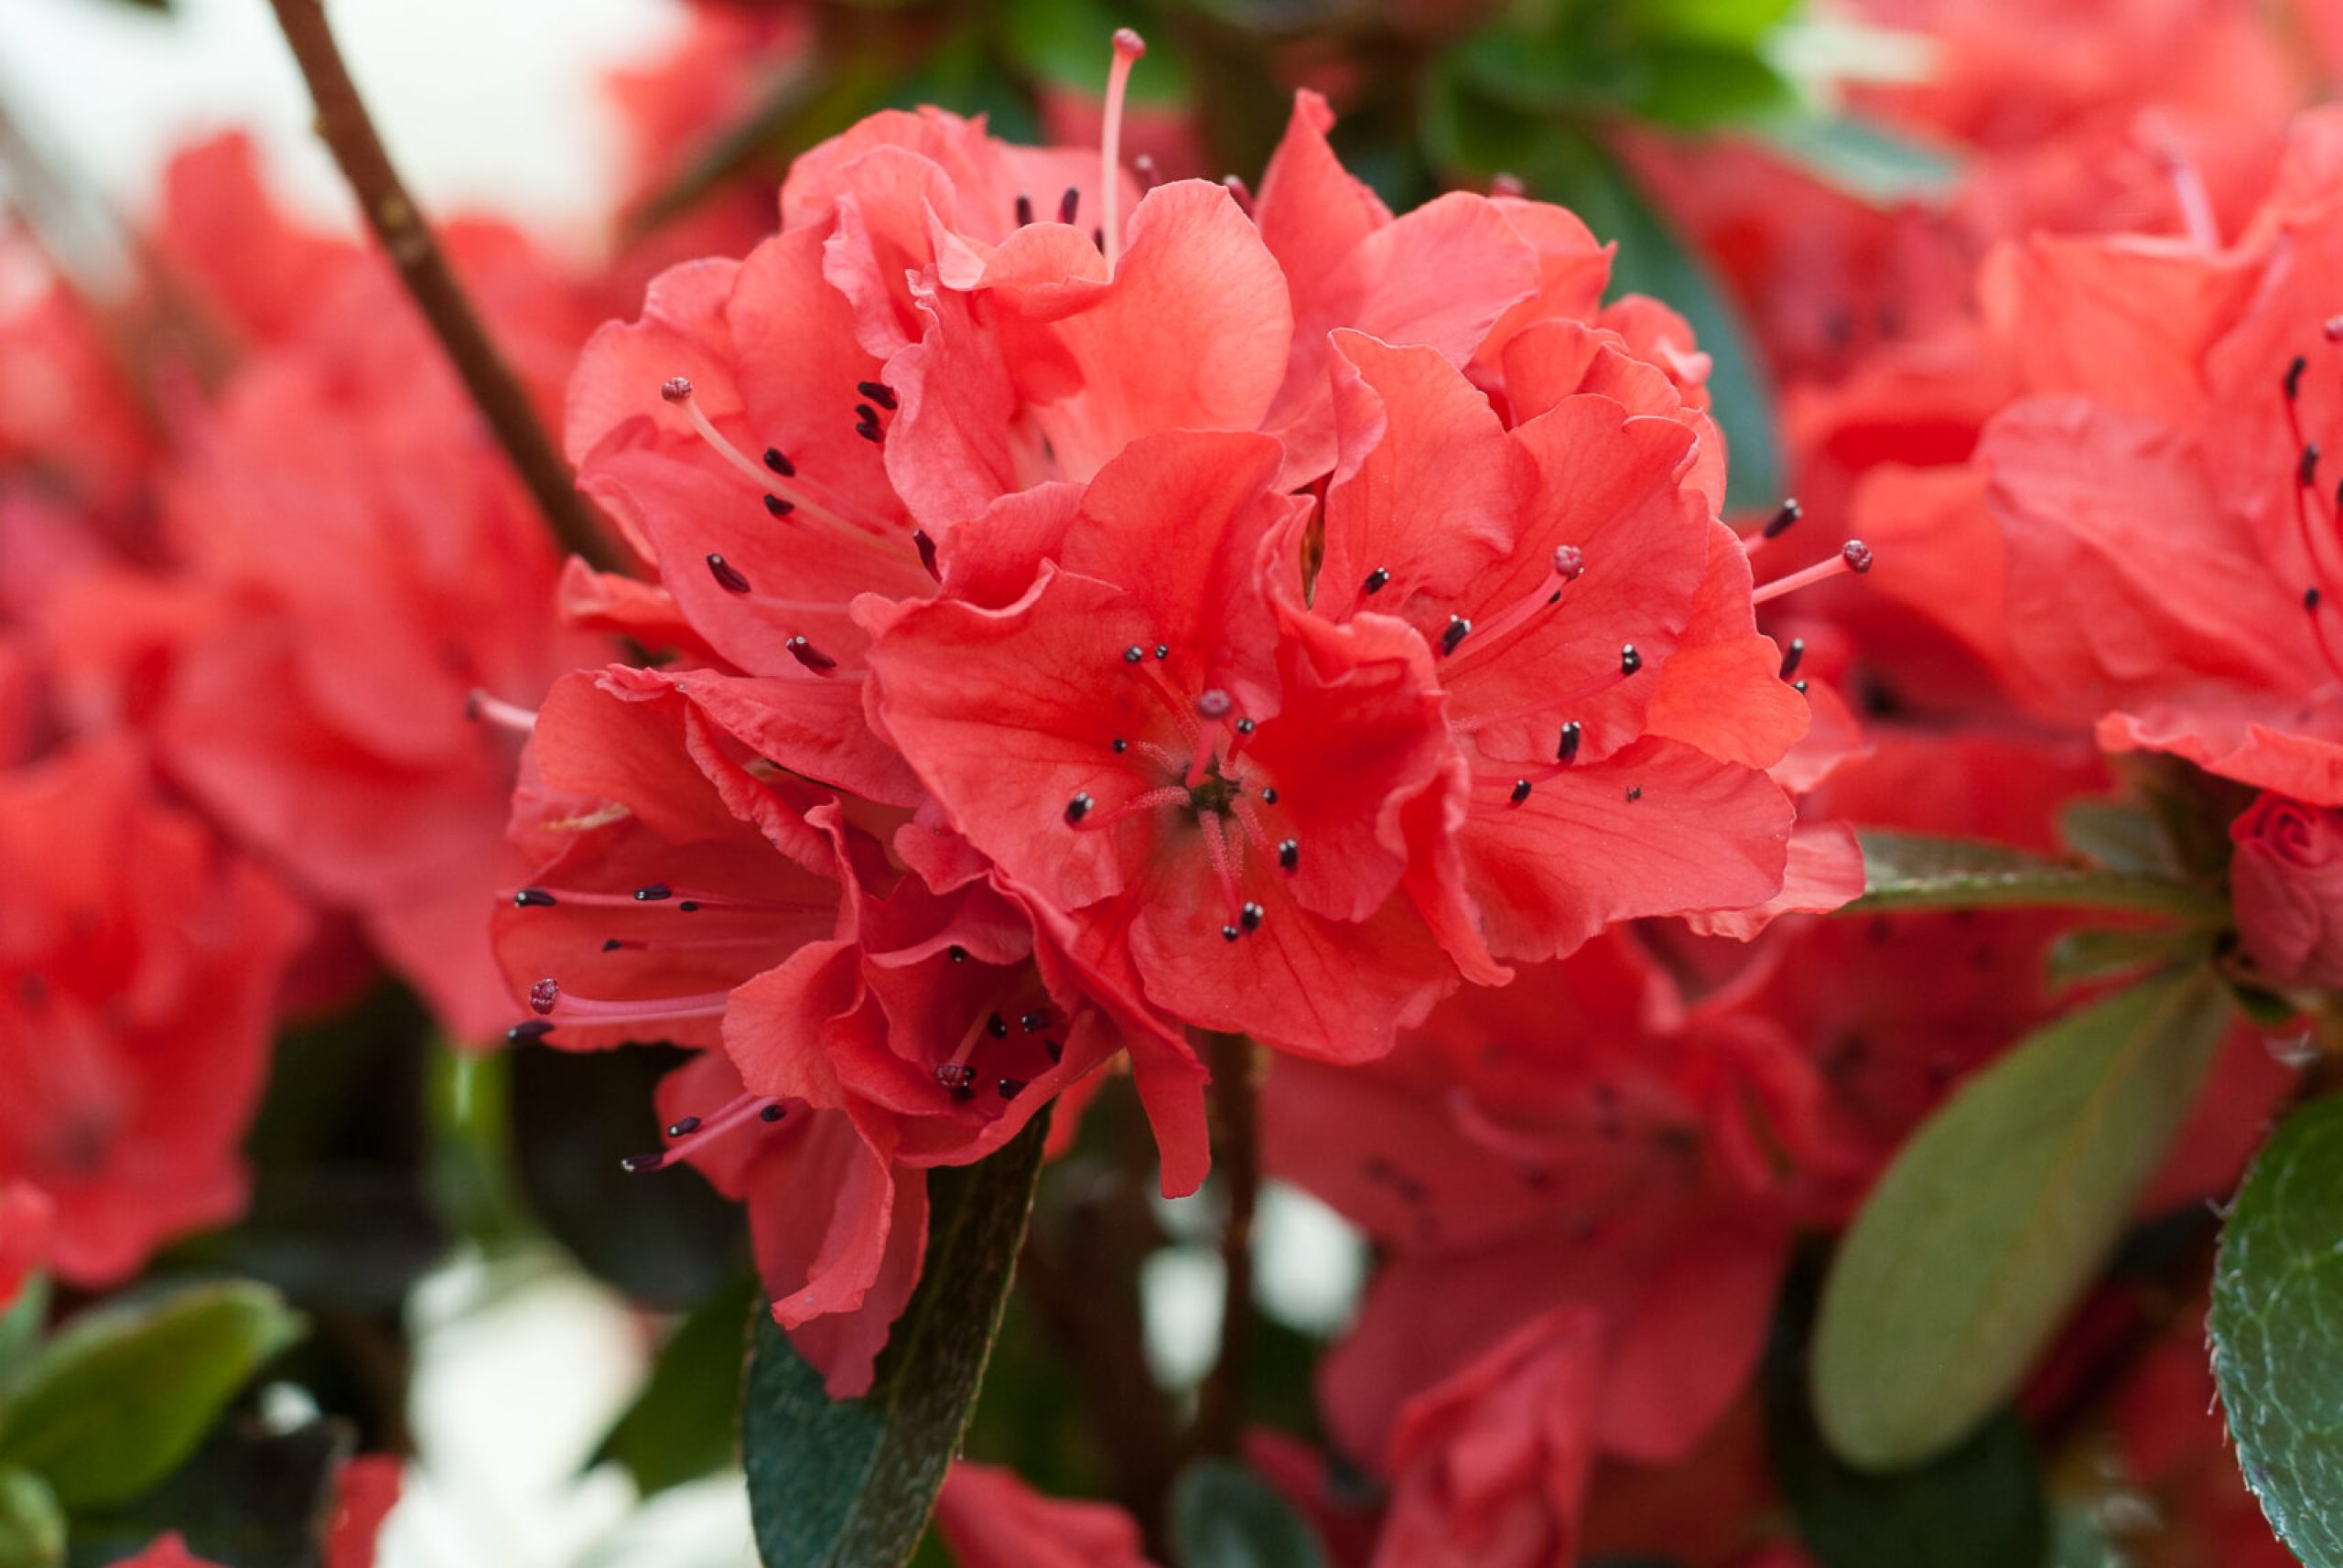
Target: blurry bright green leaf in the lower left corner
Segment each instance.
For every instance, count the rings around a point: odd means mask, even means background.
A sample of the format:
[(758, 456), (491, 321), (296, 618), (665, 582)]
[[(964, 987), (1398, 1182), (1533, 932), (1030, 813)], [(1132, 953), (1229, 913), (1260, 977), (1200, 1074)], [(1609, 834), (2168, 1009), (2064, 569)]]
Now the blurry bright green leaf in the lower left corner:
[(274, 1290), (237, 1280), (84, 1313), (0, 1411), (0, 1463), (37, 1470), (70, 1512), (134, 1498), (300, 1332)]

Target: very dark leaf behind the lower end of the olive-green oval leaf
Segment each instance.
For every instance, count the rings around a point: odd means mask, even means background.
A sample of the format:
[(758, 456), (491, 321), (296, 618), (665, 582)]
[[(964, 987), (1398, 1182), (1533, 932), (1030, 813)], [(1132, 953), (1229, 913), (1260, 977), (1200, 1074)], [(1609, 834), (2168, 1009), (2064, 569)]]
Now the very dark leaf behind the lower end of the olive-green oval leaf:
[(2043, 1561), (2043, 1479), (2008, 1411), (1919, 1470), (1842, 1463), (1806, 1407), (1813, 1271), (1792, 1275), (1764, 1367), (1767, 1460), (1818, 1568), (2013, 1568)]

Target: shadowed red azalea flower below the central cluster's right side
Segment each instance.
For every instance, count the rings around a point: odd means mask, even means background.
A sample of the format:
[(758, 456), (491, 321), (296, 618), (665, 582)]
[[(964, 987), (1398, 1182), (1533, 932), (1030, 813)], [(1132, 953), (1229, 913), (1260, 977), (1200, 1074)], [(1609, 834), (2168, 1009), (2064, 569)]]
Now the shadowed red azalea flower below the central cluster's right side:
[(1806, 1172), (1842, 1158), (1821, 1100), (1788, 1037), (1687, 1011), (1624, 931), (1467, 988), (1385, 1062), (1279, 1060), (1268, 1168), (1385, 1250), (1319, 1374), (1336, 1444), (1385, 1453), (1408, 1399), (1584, 1306), (1596, 1444), (1682, 1458), (1764, 1343)]

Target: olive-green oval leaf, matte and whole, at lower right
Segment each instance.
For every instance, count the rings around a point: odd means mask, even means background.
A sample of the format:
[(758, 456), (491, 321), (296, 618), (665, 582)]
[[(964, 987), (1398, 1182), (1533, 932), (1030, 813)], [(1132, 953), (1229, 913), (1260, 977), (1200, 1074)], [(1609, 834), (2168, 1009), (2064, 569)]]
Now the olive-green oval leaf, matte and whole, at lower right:
[(2228, 1020), (2212, 971), (2158, 976), (2027, 1037), (1921, 1126), (1823, 1290), (1813, 1409), (1839, 1458), (1919, 1465), (2008, 1402), (2120, 1240)]

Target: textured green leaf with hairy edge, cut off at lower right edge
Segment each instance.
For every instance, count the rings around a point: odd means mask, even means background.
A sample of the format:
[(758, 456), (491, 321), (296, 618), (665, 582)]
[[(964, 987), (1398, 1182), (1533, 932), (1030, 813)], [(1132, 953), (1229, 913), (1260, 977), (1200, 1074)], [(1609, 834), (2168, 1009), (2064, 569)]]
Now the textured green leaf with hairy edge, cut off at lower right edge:
[(2212, 1371), (2245, 1484), (2308, 1568), (2343, 1568), (2343, 1098), (2254, 1161), (2212, 1278)]

